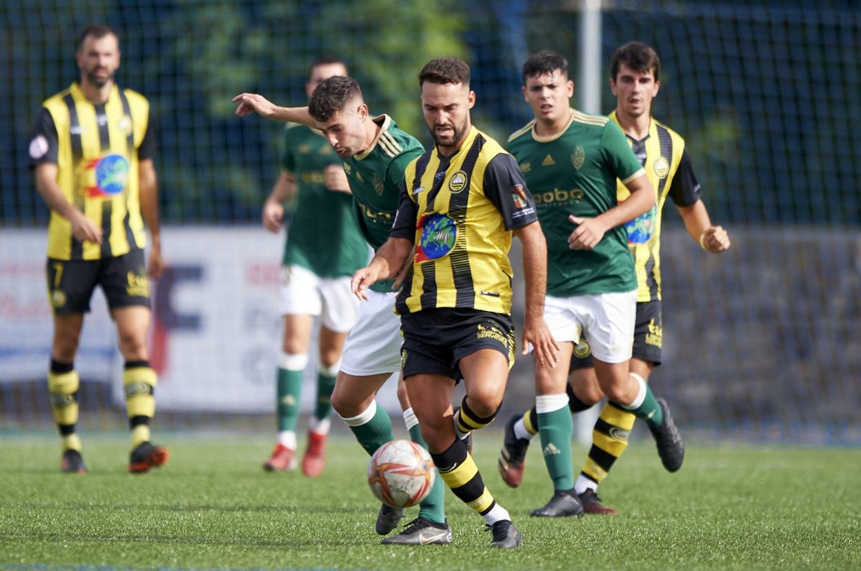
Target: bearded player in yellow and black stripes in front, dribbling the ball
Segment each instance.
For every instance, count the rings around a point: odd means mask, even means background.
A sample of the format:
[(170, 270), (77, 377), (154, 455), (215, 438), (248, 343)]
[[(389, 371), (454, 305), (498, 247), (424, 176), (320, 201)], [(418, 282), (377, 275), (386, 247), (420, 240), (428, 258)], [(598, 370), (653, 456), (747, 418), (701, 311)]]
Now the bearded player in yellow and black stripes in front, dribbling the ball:
[[(462, 438), (492, 422), (514, 357), (511, 233), (523, 242), (527, 315), (523, 339), (554, 365), (558, 348), (542, 318), (547, 249), (535, 204), (514, 159), (472, 126), (469, 67), (431, 61), (419, 73), (424, 119), (436, 143), (406, 169), (386, 244), (353, 276), (353, 291), (396, 276), (412, 256), (396, 310), (401, 368), (413, 411), (439, 474), (492, 528), (493, 547), (521, 544), (510, 514), (494, 500)], [(462, 376), (467, 396), (451, 397)], [(455, 422), (452, 422), (455, 416)]]

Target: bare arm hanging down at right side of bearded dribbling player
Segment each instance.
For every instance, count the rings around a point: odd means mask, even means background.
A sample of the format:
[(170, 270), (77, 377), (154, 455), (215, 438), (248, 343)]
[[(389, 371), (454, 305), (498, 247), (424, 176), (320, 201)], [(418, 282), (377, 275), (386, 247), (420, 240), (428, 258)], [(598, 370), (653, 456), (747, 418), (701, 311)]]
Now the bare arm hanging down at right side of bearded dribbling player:
[(544, 322), (544, 296), (547, 293), (547, 242), (541, 225), (532, 222), (517, 228), (514, 235), (523, 244), (523, 275), (526, 278), (526, 316), (523, 324), (523, 355), (535, 347), (542, 367), (554, 368), (559, 361), (556, 344)]

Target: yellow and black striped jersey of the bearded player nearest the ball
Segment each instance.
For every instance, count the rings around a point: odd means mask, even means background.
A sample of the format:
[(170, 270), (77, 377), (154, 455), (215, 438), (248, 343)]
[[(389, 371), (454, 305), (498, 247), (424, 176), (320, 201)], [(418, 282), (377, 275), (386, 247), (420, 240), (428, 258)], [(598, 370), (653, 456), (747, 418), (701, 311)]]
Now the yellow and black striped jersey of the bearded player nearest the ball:
[(406, 167), (389, 234), (416, 245), (395, 310), (511, 313), (511, 231), (537, 220), (517, 162), (475, 127), (455, 154), (425, 152)]

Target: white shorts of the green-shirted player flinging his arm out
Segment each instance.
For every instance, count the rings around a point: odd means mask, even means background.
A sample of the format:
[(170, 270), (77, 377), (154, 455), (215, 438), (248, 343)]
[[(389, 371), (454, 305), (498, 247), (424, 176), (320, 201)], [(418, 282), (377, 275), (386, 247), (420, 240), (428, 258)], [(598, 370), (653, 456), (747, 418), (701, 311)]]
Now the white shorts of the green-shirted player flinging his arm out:
[(397, 293), (368, 292), (359, 304), (359, 317), (344, 343), (341, 370), (370, 376), (400, 370), (400, 317), (394, 313)]

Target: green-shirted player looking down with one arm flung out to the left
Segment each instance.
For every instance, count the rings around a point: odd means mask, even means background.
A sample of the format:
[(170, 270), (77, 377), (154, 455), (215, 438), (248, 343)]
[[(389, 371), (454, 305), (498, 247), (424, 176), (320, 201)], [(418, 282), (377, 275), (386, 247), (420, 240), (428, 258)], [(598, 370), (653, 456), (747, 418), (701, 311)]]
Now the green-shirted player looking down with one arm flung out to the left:
[[(265, 97), (250, 93), (238, 95), (234, 101), (239, 102), (236, 112), (240, 116), (257, 113), (318, 127), (344, 161), (362, 235), (375, 250), (386, 242), (398, 208), (406, 165), (420, 156), (424, 148), (401, 131), (388, 115), (370, 115), (355, 79), (333, 77), (321, 82), (307, 108), (278, 107)], [(356, 324), (344, 344), (344, 357), (331, 395), (332, 407), (369, 454), (394, 439), (392, 421), (377, 407), (375, 397), (383, 383), (400, 371), (400, 319), (393, 312), (396, 282), (375, 284), (369, 292), (370, 301), (359, 307)], [(401, 380), (398, 398), (410, 437), (427, 448)], [(383, 543), (451, 543), (444, 491), (443, 479), (437, 478), (431, 493), (419, 505), (418, 518)], [(402, 517), (403, 510), (381, 506), (377, 533), (387, 535)]]

